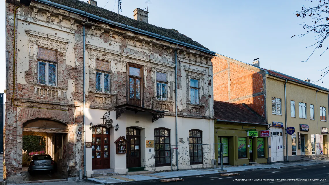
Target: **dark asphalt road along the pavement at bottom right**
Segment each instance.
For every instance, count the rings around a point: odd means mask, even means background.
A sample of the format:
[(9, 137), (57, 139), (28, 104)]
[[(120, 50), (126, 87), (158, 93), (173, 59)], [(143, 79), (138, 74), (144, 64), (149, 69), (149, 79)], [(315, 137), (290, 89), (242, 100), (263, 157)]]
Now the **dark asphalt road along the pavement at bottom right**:
[[(160, 182), (160, 180), (139, 181), (128, 183), (116, 183), (123, 185), (193, 185), (193, 184), (329, 184), (329, 163), (312, 166), (295, 166), (281, 169), (263, 169), (253, 171), (236, 172), (236, 176), (220, 176), (220, 174), (200, 175), (184, 178), (184, 181)], [(249, 180), (250, 179), (250, 180)], [(261, 179), (271, 179), (269, 181), (260, 181)], [(291, 180), (289, 180), (291, 179)], [(303, 179), (317, 179), (317, 181), (294, 181)], [(116, 185), (115, 184), (115, 185)]]

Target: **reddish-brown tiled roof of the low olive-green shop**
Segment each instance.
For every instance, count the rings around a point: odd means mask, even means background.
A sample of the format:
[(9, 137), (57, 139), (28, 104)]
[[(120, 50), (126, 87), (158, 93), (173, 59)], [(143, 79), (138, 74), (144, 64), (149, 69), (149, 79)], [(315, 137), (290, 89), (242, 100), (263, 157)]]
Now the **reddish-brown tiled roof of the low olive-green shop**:
[(267, 124), (263, 117), (244, 104), (214, 101), (214, 117), (223, 121)]

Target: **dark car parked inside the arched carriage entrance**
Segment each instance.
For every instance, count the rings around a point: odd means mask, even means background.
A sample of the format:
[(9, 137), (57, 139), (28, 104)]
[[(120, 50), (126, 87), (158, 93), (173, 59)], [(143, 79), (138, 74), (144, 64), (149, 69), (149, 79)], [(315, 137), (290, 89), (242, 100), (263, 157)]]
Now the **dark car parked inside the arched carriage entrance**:
[(56, 170), (55, 161), (48, 154), (35, 154), (32, 155), (30, 159), (28, 159), (29, 165), (27, 167), (27, 171), (30, 174), (36, 171), (51, 171), (54, 172)]

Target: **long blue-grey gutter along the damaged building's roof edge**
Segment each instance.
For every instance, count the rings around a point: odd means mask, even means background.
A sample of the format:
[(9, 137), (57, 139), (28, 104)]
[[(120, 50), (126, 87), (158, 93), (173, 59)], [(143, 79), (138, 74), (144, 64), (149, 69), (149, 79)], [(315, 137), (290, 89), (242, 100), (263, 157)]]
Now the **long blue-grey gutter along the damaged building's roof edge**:
[(96, 20), (99, 20), (99, 21), (102, 21), (102, 22), (105, 22), (105, 23), (108, 23), (108, 24), (112, 24), (112, 25), (130, 30), (130, 31), (133, 31), (133, 32), (138, 32), (140, 34), (153, 36), (153, 37), (156, 37), (156, 38), (168, 41), (168, 42), (172, 42), (172, 43), (175, 43), (175, 44), (180, 44), (180, 45), (183, 45), (183, 46), (186, 46), (186, 47), (190, 47), (190, 48), (193, 48), (193, 49), (196, 49), (196, 50), (199, 50), (199, 51), (203, 51), (203, 52), (206, 52), (206, 53), (209, 53), (209, 54), (215, 56), (215, 52), (213, 52), (213, 51), (210, 51), (210, 50), (198, 47), (198, 46), (194, 46), (192, 44), (188, 44), (188, 43), (185, 43), (185, 42), (182, 42), (182, 41), (179, 41), (179, 40), (175, 40), (175, 39), (172, 39), (172, 38), (169, 38), (169, 37), (166, 37), (166, 36), (162, 36), (162, 35), (159, 35), (159, 34), (148, 32), (148, 31), (145, 31), (145, 30), (141, 30), (141, 29), (138, 29), (138, 28), (135, 28), (135, 27), (132, 27), (132, 26), (128, 26), (126, 24), (121, 24), (121, 23), (118, 23), (118, 22), (114, 22), (114, 21), (111, 21), (109, 19), (105, 19), (103, 17), (97, 16), (97, 15), (94, 15), (94, 14), (91, 14), (91, 13), (88, 13), (88, 12), (85, 12), (85, 11), (82, 11), (82, 10), (78, 10), (78, 9), (75, 9), (75, 8), (71, 8), (71, 7), (61, 5), (61, 4), (58, 4), (58, 3), (54, 3), (54, 2), (51, 2), (51, 1), (47, 1), (47, 0), (34, 0), (34, 1), (44, 3), (44, 4), (47, 4), (47, 5), (56, 7), (56, 8), (64, 9), (64, 10), (67, 10), (67, 11), (70, 11), (70, 12), (74, 12), (74, 13), (77, 13), (77, 14), (80, 14), (80, 15), (83, 15), (83, 16), (86, 16), (86, 17), (90, 17), (90, 18), (93, 18), (93, 19), (96, 19)]

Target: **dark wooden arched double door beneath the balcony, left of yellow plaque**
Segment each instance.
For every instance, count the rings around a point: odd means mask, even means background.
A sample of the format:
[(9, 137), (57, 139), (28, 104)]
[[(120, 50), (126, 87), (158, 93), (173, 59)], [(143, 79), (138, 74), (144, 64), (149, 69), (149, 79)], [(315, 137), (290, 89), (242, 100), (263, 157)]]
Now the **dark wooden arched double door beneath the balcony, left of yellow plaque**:
[(126, 128), (126, 138), (128, 141), (127, 168), (140, 167), (140, 129)]

